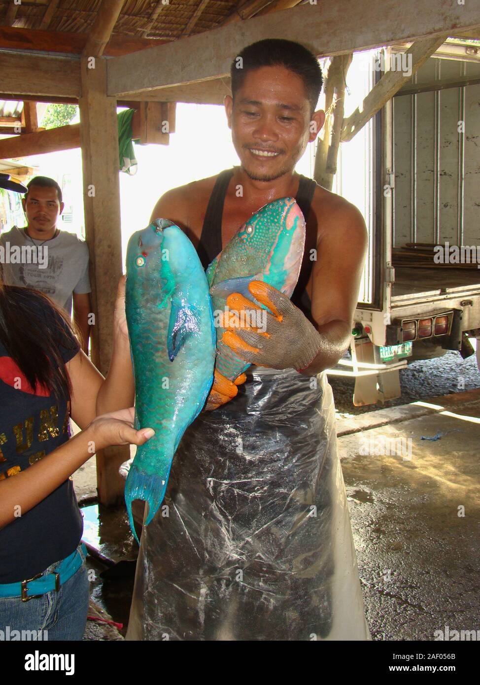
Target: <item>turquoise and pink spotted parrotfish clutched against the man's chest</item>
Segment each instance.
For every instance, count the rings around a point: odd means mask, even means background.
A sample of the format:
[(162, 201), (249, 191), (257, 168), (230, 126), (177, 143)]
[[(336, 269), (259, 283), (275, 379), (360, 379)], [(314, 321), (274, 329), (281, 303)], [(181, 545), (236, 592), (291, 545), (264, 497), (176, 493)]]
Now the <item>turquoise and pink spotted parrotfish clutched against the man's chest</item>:
[[(304, 248), (305, 219), (301, 209), (292, 197), (282, 197), (255, 212), (208, 266), (217, 324), (216, 370), (228, 379), (236, 379), (250, 366), (222, 342), (222, 312), (226, 311), (228, 295), (240, 292), (253, 301), (248, 286), (255, 280), (291, 297), (299, 279)], [(262, 308), (266, 309), (264, 305)]]

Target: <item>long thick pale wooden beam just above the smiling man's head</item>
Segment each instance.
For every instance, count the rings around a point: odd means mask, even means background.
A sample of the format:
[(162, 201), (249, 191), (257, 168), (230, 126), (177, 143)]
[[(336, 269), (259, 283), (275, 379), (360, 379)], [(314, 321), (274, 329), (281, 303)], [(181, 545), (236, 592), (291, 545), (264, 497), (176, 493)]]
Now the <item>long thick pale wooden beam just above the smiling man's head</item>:
[(234, 56), (262, 38), (301, 40), (316, 55), (340, 55), (477, 26), (478, 3), (449, 3), (442, 12), (438, 0), (422, 0), (420, 7), (418, 0), (384, 0), (381, 12), (371, 0), (299, 5), (152, 48), (148, 60), (141, 53), (109, 60), (107, 92), (125, 97), (225, 77)]

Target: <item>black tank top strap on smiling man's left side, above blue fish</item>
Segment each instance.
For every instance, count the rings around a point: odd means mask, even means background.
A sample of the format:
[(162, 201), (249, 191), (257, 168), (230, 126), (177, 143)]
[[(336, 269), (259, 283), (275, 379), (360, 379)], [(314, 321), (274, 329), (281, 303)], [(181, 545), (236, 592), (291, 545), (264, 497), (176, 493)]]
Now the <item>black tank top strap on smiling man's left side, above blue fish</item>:
[(210, 262), (222, 251), (223, 205), (232, 176), (233, 169), (225, 169), (225, 171), (221, 171), (218, 174), (212, 195), (210, 195), (208, 201), (197, 249), (203, 269), (206, 269)]

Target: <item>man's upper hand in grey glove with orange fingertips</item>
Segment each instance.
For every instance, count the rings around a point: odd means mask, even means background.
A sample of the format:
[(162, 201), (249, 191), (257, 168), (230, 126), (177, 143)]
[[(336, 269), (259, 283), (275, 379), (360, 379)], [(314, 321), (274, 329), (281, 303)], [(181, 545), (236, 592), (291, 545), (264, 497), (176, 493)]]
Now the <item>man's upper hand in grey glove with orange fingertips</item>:
[(252, 281), (249, 291), (272, 312), (269, 314), (240, 293), (227, 297), (231, 317), (222, 341), (251, 364), (271, 369), (296, 369), (310, 366), (323, 337), (299, 308), (282, 292), (261, 281)]

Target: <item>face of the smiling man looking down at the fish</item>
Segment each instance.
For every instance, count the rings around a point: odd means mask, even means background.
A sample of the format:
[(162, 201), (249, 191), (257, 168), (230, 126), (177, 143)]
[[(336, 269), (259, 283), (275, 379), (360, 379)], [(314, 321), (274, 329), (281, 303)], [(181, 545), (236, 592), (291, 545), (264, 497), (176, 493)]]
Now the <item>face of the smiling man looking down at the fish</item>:
[[(325, 120), (320, 110), (310, 116), (301, 77), (283, 66), (249, 71), (235, 103), (225, 98), (225, 110), (242, 169), (255, 181), (273, 181), (292, 173)], [(316, 122), (312, 133), (311, 119)]]

